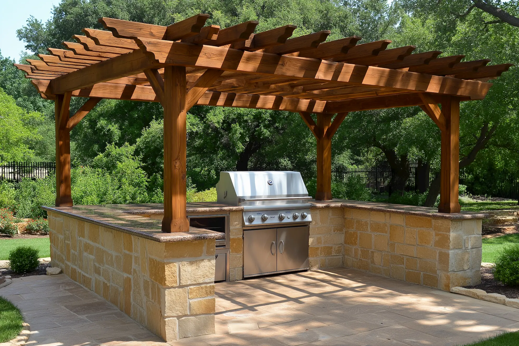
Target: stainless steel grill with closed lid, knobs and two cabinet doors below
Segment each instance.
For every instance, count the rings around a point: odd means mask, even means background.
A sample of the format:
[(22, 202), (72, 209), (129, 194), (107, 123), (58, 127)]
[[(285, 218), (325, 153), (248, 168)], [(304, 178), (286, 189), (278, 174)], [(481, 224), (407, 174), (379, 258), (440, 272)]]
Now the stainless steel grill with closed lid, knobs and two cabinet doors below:
[(308, 269), (311, 199), (299, 172), (221, 172), (218, 203), (243, 206), (243, 276)]

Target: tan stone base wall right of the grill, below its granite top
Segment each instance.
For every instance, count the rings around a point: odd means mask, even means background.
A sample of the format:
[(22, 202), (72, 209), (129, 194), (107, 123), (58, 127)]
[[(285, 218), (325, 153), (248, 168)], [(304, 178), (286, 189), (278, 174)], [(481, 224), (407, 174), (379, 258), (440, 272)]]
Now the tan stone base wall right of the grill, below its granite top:
[(481, 219), (347, 207), (311, 212), (310, 269), (342, 265), (447, 291), (481, 282)]

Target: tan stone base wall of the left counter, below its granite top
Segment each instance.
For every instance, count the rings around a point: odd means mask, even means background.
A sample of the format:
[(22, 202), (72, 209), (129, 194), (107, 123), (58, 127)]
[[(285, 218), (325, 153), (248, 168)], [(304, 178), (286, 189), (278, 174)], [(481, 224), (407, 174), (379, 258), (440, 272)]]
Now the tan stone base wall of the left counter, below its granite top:
[(215, 241), (160, 243), (48, 212), (52, 266), (170, 341), (214, 333)]

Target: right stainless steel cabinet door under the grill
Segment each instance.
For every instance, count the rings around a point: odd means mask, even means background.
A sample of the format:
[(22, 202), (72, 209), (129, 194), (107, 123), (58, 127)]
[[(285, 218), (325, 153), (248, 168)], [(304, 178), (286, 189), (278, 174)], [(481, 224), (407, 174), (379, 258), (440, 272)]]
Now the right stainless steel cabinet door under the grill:
[(278, 228), (278, 271), (308, 268), (309, 236), (309, 226)]

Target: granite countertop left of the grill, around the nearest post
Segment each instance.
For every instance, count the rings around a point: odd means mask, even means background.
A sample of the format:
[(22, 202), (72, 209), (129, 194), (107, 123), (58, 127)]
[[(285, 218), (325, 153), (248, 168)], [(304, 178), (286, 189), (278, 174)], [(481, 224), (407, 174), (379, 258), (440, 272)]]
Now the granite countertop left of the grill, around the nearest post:
[[(163, 233), (161, 220), (138, 215), (163, 214), (163, 205), (159, 203), (42, 206), (42, 209), (157, 242), (223, 239), (225, 237), (221, 232), (196, 227), (189, 227), (188, 232)], [(187, 205), (188, 213), (236, 210), (241, 211), (243, 207), (212, 202), (188, 203)]]

